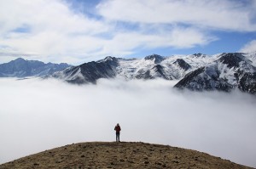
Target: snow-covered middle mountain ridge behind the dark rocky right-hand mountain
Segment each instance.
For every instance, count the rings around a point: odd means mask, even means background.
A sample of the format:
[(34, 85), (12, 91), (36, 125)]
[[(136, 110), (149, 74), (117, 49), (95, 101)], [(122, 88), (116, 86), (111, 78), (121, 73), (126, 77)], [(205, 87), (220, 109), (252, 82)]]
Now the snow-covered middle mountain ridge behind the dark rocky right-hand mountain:
[[(165, 58), (157, 54), (144, 59), (121, 59), (108, 56), (105, 59), (92, 61), (71, 69), (56, 72), (53, 76), (73, 83), (96, 83), (99, 78), (121, 77), (131, 79), (166, 80), (180, 79), (190, 70), (195, 70), (205, 63), (208, 57), (183, 58), (183, 56)], [(204, 60), (204, 61), (203, 61)]]

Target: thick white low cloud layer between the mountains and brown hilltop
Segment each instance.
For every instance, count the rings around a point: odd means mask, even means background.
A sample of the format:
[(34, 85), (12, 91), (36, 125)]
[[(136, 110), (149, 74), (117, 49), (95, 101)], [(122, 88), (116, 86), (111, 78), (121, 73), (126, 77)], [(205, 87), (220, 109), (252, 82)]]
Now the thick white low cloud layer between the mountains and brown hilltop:
[(176, 91), (175, 82), (0, 79), (0, 163), (90, 141), (142, 141), (196, 149), (256, 166), (256, 99)]

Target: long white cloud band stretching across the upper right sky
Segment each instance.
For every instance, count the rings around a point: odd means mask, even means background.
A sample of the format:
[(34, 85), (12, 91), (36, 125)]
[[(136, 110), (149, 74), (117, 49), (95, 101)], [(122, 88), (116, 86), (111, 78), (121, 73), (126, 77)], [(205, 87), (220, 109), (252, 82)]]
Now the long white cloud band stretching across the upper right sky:
[[(97, 8), (108, 20), (146, 24), (185, 24), (232, 31), (255, 31), (251, 1), (229, 0), (107, 0)], [(253, 1), (252, 1), (253, 3)], [(236, 20), (234, 20), (236, 19)]]

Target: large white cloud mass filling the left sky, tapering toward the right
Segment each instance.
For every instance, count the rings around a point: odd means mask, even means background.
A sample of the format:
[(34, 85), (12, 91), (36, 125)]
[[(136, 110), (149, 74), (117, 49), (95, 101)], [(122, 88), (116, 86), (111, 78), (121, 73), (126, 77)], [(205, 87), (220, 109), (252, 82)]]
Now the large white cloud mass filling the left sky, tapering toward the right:
[(133, 54), (136, 48), (193, 48), (215, 40), (201, 29), (177, 25), (120, 29), (113, 21), (74, 13), (60, 0), (1, 1), (0, 8), (0, 43), (13, 49), (4, 53), (0, 46), (2, 62), (24, 54), (26, 59), (81, 64), (91, 57)]

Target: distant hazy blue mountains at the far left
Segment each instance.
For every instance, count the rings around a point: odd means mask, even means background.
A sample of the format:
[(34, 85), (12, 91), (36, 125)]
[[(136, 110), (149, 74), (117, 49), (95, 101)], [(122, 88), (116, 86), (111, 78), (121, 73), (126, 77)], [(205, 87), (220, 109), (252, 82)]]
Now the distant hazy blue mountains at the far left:
[(44, 64), (37, 60), (15, 59), (0, 65), (0, 77), (47, 76), (55, 71), (64, 70), (67, 64)]

